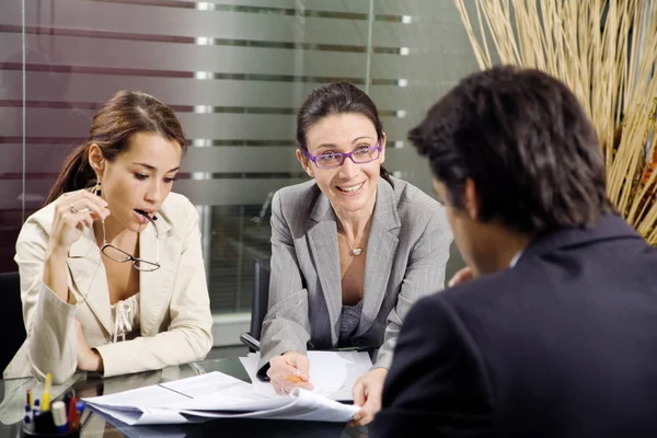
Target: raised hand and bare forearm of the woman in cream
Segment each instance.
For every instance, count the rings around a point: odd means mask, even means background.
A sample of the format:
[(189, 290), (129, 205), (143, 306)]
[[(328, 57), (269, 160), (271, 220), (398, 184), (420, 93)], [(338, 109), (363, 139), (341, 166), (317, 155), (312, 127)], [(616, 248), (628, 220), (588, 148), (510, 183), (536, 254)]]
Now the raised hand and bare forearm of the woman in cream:
[(55, 201), (55, 215), (46, 260), (44, 284), (68, 302), (66, 260), (71, 245), (80, 239), (84, 227), (110, 216), (107, 203), (88, 191), (65, 193)]

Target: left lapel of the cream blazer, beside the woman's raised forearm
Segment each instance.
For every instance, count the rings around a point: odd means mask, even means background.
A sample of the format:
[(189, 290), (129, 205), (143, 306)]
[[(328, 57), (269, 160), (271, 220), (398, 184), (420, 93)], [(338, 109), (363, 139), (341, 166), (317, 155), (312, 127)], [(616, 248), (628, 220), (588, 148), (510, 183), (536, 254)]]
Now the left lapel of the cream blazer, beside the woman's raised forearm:
[(78, 291), (76, 298), (79, 302), (87, 302), (107, 333), (112, 333), (114, 323), (110, 307), (107, 274), (92, 228), (85, 229), (84, 234), (71, 245), (66, 262), (74, 289)]

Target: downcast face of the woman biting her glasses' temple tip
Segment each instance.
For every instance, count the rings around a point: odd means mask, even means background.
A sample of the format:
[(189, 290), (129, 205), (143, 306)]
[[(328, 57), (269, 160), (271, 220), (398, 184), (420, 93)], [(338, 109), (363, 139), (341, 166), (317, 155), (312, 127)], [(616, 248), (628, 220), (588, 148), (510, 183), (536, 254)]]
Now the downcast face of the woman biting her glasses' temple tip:
[(136, 210), (150, 216), (158, 211), (171, 193), (182, 153), (177, 142), (154, 132), (134, 135), (127, 150), (112, 161), (99, 159), (100, 148), (92, 146), (90, 161), (97, 163), (111, 218), (130, 231), (143, 229), (148, 220)]

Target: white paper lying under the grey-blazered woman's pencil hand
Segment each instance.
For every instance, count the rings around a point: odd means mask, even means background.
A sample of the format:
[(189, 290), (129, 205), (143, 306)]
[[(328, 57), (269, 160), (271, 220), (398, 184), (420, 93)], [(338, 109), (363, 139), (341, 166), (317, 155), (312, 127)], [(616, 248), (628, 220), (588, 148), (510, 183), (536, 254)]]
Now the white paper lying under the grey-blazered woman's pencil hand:
[[(314, 387), (312, 393), (341, 402), (354, 401), (351, 390), (356, 380), (372, 368), (372, 360), (366, 351), (308, 351), (307, 355), (310, 361), (310, 382)], [(256, 377), (260, 358), (258, 351), (240, 357), (240, 360), (256, 391), (275, 394), (272, 384), (262, 382)]]

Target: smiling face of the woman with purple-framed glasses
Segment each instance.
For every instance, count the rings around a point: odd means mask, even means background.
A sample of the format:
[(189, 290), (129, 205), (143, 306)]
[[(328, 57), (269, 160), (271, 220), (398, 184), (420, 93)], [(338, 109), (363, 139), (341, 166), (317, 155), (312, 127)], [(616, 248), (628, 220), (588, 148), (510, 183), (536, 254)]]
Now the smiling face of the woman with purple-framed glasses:
[(299, 162), (315, 178), (338, 215), (354, 215), (362, 210), (371, 212), (377, 199), (381, 164), (385, 159), (385, 134), (378, 141), (374, 125), (364, 115), (332, 114), (310, 127), (306, 145), (308, 152), (314, 157), (381, 147), (381, 154), (374, 161), (356, 164), (346, 158), (341, 166), (334, 169), (318, 169), (301, 151), (297, 151)]

